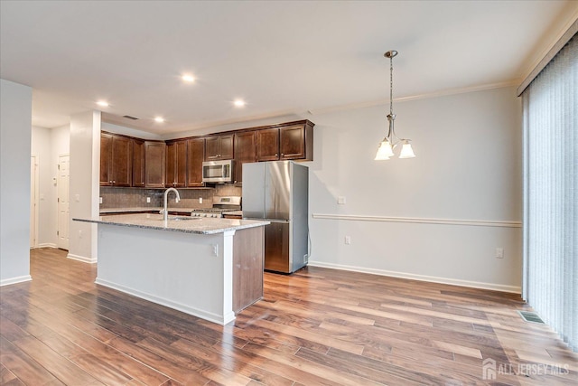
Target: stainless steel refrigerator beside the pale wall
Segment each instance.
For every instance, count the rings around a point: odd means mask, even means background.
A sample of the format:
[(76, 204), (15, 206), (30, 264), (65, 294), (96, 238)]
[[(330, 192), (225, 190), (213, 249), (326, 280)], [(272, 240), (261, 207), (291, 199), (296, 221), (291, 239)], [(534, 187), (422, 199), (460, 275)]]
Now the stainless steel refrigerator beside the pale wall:
[(243, 165), (243, 218), (265, 227), (265, 269), (293, 273), (309, 259), (309, 168), (293, 161)]

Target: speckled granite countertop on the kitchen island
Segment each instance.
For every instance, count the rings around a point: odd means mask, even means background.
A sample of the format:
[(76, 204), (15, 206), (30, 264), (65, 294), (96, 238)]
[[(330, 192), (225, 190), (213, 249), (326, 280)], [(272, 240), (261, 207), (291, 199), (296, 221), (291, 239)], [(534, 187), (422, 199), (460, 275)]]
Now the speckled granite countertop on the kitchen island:
[(151, 213), (117, 214), (111, 216), (99, 216), (98, 219), (72, 220), (93, 222), (97, 224), (118, 225), (124, 227), (154, 229), (160, 231), (180, 231), (196, 234), (215, 234), (225, 231), (237, 231), (269, 224), (269, 221), (213, 219), (205, 217), (184, 217), (171, 215), (169, 215), (168, 221), (163, 221), (162, 214)]

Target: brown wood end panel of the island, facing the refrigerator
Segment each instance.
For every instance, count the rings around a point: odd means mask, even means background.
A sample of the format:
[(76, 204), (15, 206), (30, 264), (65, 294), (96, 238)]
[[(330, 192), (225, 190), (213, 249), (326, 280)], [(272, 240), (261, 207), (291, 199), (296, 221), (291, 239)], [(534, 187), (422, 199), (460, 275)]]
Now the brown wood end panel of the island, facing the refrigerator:
[(263, 298), (265, 227), (238, 230), (233, 238), (233, 310)]

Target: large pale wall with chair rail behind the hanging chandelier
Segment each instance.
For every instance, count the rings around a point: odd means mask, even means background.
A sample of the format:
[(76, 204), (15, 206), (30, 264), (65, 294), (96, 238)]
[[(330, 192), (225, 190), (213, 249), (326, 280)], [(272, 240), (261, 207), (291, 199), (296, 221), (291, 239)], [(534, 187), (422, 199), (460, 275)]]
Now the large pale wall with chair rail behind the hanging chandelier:
[[(519, 292), (521, 103), (515, 90), (395, 103), (394, 111), (397, 134), (413, 140), (416, 158), (373, 160), (388, 106), (310, 118), (310, 264)], [(338, 196), (347, 203), (338, 205)], [(504, 259), (495, 258), (496, 248), (504, 249)]]

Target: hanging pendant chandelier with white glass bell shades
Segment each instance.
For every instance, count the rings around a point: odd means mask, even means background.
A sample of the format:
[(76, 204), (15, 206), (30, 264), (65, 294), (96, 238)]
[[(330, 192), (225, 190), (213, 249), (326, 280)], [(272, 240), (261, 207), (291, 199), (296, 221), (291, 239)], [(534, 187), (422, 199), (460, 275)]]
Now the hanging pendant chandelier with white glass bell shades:
[(396, 51), (388, 51), (384, 54), (386, 58), (389, 58), (389, 114), (387, 115), (387, 120), (389, 121), (389, 129), (387, 130), (387, 136), (379, 143), (378, 153), (376, 153), (375, 160), (383, 161), (389, 159), (389, 157), (394, 156), (394, 150), (398, 145), (401, 145), (401, 151), (399, 152), (399, 158), (413, 158), (415, 157), (414, 150), (410, 144), (409, 139), (400, 138), (396, 136), (396, 130), (394, 128), (394, 120), (396, 119), (396, 114), (394, 114), (394, 65), (393, 58), (397, 55)]

